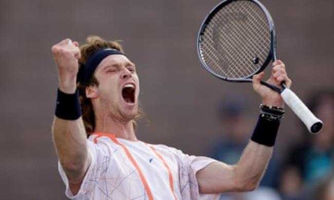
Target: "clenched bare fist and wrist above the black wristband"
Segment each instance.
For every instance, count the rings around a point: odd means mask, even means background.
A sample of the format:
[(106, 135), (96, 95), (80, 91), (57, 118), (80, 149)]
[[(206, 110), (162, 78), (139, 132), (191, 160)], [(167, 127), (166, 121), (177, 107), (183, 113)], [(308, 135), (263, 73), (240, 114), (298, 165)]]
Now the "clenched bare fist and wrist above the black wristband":
[(51, 48), (55, 64), (58, 69), (59, 89), (65, 93), (75, 93), (78, 59), (81, 57), (78, 42), (64, 39)]

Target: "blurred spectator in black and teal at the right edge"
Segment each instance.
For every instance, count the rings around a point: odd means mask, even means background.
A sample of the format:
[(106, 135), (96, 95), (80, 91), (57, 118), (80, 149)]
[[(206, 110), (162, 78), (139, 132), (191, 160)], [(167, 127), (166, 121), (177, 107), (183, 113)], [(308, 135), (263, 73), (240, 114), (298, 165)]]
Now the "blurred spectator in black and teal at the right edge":
[(288, 152), (280, 181), (284, 199), (305, 199), (314, 184), (334, 169), (334, 91), (312, 95), (309, 108), (324, 126), (319, 134), (303, 134), (302, 143)]

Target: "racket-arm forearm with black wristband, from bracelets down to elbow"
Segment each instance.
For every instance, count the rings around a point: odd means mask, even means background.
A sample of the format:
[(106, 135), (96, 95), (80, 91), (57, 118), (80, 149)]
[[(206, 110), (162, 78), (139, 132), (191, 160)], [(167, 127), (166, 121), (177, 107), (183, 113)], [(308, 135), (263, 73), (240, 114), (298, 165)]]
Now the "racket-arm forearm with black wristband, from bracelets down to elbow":
[(242, 188), (247, 191), (255, 189), (261, 181), (272, 155), (280, 119), (284, 114), (284, 110), (278, 107), (261, 105), (260, 108), (261, 114), (251, 140), (235, 166), (236, 182), (244, 183)]

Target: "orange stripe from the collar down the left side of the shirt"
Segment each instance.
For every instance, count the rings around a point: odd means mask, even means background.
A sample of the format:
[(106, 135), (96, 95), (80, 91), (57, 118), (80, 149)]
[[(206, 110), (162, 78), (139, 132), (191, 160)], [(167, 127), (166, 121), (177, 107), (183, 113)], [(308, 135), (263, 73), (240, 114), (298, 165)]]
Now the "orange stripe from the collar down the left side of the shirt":
[(123, 145), (122, 143), (119, 143), (116, 135), (115, 134), (110, 134), (110, 133), (100, 133), (100, 132), (96, 132), (96, 133), (92, 133), (95, 135), (98, 135), (97, 137), (94, 138), (94, 142), (95, 139), (97, 139), (99, 136), (107, 136), (109, 137), (114, 143), (116, 143), (117, 145), (121, 146), (126, 154), (126, 156), (129, 158), (129, 160), (131, 161), (131, 163), (134, 165), (134, 167), (136, 168), (137, 172), (139, 173), (140, 179), (143, 182), (144, 188), (146, 190), (147, 196), (149, 196), (149, 200), (153, 200), (153, 195), (151, 192), (151, 189), (149, 187), (149, 184), (147, 184), (146, 178), (143, 174), (143, 172), (141, 171), (141, 169), (139, 168), (137, 162), (135, 161), (134, 157), (131, 155), (130, 151), (127, 149), (127, 147), (125, 145)]

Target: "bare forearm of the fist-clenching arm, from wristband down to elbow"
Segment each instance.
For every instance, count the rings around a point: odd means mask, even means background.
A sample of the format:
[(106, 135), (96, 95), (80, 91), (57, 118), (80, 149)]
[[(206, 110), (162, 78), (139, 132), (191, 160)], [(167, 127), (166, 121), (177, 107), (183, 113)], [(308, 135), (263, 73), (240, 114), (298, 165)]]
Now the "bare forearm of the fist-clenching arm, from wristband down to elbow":
[(56, 116), (52, 126), (52, 137), (66, 175), (74, 182), (80, 181), (90, 159), (82, 118), (65, 120)]

